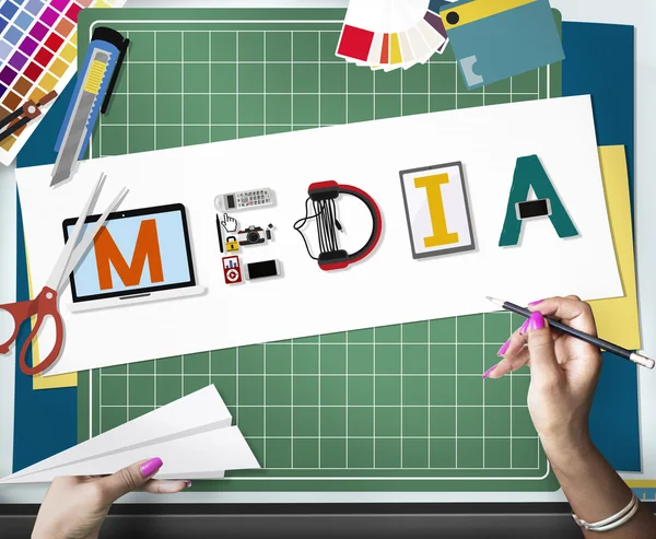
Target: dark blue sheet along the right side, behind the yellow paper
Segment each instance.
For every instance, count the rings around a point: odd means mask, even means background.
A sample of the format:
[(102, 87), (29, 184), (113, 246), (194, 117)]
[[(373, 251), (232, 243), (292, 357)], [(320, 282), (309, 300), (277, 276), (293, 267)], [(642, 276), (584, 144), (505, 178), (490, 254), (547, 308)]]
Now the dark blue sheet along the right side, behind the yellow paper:
[[(635, 28), (563, 24), (563, 95), (591, 94), (599, 145), (626, 147), (634, 200)], [(616, 470), (641, 471), (637, 367), (604, 354), (590, 414), (593, 441)]]

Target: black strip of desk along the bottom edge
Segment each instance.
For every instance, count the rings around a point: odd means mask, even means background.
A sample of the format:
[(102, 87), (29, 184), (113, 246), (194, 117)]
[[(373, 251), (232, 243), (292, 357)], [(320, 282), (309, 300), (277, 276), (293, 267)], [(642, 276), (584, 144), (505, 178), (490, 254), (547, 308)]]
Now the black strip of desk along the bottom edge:
[[(656, 503), (647, 504), (656, 512)], [(0, 536), (30, 537), (38, 505), (1, 505)], [(323, 539), (329, 537), (581, 539), (564, 503), (156, 504), (113, 507), (101, 538)]]

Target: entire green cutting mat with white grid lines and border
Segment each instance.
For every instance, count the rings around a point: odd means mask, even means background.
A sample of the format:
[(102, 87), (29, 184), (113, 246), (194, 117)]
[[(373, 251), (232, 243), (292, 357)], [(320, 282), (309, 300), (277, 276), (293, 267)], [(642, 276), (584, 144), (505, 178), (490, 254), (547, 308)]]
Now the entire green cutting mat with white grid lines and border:
[[(450, 47), (407, 71), (356, 68), (335, 57), (343, 15), (83, 11), (81, 55), (96, 25), (131, 40), (91, 156), (561, 94), (560, 66), (467, 92)], [(214, 384), (263, 470), (198, 490), (554, 490), (528, 373), (481, 378), (518, 325), (494, 313), (81, 373), (79, 438)]]

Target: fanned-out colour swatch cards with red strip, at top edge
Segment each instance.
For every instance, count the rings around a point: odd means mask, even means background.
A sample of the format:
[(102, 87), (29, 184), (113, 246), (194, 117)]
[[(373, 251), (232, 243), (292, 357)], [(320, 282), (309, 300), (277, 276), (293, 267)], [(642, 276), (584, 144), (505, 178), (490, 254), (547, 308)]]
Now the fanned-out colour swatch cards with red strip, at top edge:
[(351, 0), (337, 56), (386, 71), (426, 62), (446, 48), (445, 0)]

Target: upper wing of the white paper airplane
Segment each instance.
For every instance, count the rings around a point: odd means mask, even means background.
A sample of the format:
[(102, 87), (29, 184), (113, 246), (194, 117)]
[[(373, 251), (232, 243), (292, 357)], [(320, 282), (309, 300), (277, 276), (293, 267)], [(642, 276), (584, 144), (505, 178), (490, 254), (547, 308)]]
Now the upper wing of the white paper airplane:
[[(66, 465), (82, 465), (89, 460), (120, 452), (131, 450), (132, 453), (145, 455), (141, 458), (156, 456), (163, 458), (153, 452), (160, 450), (160, 447), (165, 445), (166, 441), (185, 437), (190, 433), (225, 429), (231, 423), (232, 417), (227, 408), (216, 388), (211, 385), (24, 468), (0, 480), (0, 483)], [(139, 460), (139, 458), (136, 460)], [(120, 467), (114, 471), (118, 469)], [(214, 466), (212, 469), (222, 470), (224, 468)]]

